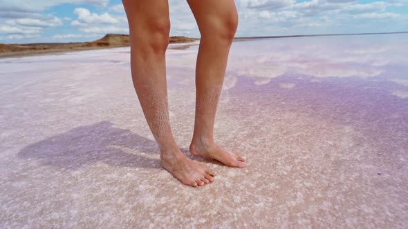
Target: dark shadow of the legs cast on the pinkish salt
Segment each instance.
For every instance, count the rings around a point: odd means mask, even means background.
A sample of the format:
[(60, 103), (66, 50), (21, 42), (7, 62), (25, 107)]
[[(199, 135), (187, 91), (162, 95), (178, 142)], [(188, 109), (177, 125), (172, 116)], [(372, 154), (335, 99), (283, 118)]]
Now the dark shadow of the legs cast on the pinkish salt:
[[(187, 148), (180, 149), (185, 154)], [(73, 128), (23, 148), (18, 157), (35, 159), (43, 166), (78, 169), (95, 163), (134, 168), (160, 167), (160, 152), (156, 141), (130, 130), (101, 121), (89, 126)], [(187, 155), (198, 161), (220, 164), (212, 159)]]

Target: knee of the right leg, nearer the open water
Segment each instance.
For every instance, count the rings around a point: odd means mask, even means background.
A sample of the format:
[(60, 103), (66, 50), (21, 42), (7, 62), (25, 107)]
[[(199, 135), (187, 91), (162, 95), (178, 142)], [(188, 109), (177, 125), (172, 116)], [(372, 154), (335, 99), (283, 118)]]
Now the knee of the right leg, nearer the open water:
[(209, 21), (210, 25), (201, 32), (201, 37), (210, 37), (210, 39), (219, 39), (229, 43), (233, 41), (238, 27), (237, 11), (230, 11)]

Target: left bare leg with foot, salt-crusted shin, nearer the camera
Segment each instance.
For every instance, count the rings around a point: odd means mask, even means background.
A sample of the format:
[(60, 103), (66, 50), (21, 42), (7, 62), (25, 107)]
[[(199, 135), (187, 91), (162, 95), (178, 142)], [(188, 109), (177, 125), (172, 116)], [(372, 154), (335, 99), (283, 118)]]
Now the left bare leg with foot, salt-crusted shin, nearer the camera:
[(167, 0), (122, 3), (129, 22), (133, 86), (160, 147), (160, 165), (189, 186), (210, 183), (214, 172), (183, 155), (171, 133), (165, 72), (170, 30)]

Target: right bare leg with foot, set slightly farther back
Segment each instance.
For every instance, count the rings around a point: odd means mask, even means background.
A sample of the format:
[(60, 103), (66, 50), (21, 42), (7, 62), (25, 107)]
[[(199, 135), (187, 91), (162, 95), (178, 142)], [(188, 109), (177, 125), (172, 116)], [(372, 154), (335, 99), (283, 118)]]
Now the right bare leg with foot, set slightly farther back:
[(245, 160), (214, 143), (214, 119), (230, 46), (237, 30), (234, 0), (187, 0), (201, 32), (196, 63), (196, 117), (189, 150), (226, 166), (245, 168)]

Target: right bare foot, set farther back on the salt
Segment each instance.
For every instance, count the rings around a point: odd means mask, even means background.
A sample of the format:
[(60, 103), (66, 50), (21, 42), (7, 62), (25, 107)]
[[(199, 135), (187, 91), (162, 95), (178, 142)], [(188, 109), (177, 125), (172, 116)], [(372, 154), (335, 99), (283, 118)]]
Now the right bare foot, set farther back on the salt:
[(219, 147), (214, 143), (214, 141), (202, 141), (198, 139), (193, 139), (189, 147), (190, 152), (193, 155), (201, 157), (210, 157), (220, 161), (225, 166), (245, 168), (246, 163), (238, 154), (232, 154), (227, 152), (223, 148)]

